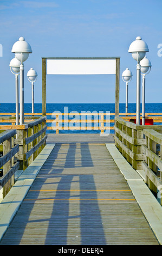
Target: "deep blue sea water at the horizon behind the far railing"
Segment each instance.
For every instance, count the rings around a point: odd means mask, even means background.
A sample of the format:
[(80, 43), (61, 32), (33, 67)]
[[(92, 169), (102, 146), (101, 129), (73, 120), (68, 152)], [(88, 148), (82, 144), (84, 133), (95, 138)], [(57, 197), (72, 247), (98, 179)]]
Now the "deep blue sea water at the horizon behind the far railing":
[[(64, 109), (68, 109), (68, 112), (110, 112), (111, 119), (114, 118), (114, 115), (111, 113), (115, 113), (115, 103), (47, 103), (46, 111), (47, 113), (53, 112), (61, 112), (64, 113)], [(142, 112), (142, 105), (141, 110)], [(1, 113), (15, 113), (16, 106), (15, 103), (0, 103), (0, 112)], [(42, 113), (42, 103), (35, 103), (34, 104), (34, 112), (35, 113)], [(135, 113), (136, 112), (136, 103), (128, 103), (128, 113)], [(146, 113), (162, 113), (162, 103), (145, 103), (145, 112)], [(24, 103), (24, 113), (31, 113), (31, 103)], [(125, 113), (125, 103), (119, 104), (119, 113)], [(47, 117), (51, 119), (51, 116)], [(47, 120), (48, 121), (48, 120)], [(161, 123), (156, 123), (160, 125)], [(51, 123), (47, 124), (51, 126)], [(110, 126), (113, 126), (113, 123), (110, 123)], [(47, 130), (47, 133), (54, 133), (54, 130)], [(59, 131), (60, 133), (68, 133), (68, 132), (77, 132), (77, 133), (100, 133), (100, 130), (75, 130), (75, 131)], [(114, 131), (111, 130), (111, 133)]]

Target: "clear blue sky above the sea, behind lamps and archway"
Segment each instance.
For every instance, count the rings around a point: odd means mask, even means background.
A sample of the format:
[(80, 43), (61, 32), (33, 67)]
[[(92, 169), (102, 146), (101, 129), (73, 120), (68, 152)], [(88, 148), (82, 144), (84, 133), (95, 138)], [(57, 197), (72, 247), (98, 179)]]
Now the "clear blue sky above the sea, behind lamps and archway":
[[(12, 45), (24, 36), (33, 53), (24, 62), (24, 101), (31, 102), (30, 68), (37, 71), (35, 102), (42, 102), (42, 57), (120, 57), (120, 102), (125, 102), (122, 71), (133, 73), (128, 102), (136, 102), (136, 65), (129, 45), (137, 36), (147, 42), (152, 68), (146, 76), (146, 102), (161, 102), (161, 0), (0, 0), (1, 102), (15, 102), (15, 78), (9, 69)], [(162, 51), (161, 51), (162, 53)], [(114, 75), (48, 75), (49, 103), (113, 103)]]

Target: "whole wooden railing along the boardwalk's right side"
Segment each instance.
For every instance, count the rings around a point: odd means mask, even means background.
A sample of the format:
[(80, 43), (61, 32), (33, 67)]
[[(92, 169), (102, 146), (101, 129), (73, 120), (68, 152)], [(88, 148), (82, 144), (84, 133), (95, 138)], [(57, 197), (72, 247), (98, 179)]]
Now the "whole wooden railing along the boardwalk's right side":
[(142, 176), (162, 205), (162, 129), (161, 125), (137, 125), (115, 118), (115, 145)]

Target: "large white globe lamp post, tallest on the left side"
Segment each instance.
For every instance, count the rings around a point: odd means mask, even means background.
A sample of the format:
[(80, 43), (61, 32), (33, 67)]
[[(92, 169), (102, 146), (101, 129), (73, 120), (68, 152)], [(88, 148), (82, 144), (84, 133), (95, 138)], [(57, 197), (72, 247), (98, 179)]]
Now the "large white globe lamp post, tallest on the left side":
[(12, 46), (12, 52), (21, 62), (20, 65), (20, 125), (24, 123), (24, 65), (23, 62), (28, 59), (29, 53), (32, 53), (31, 46), (21, 36)]

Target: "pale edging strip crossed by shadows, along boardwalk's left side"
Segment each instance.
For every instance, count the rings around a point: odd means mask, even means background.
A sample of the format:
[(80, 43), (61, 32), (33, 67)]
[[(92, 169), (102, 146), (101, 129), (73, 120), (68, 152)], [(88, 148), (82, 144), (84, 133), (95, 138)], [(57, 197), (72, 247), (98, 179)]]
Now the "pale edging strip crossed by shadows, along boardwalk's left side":
[(55, 144), (47, 144), (44, 147), (30, 166), (19, 176), (7, 196), (0, 203), (0, 241), (54, 147)]

